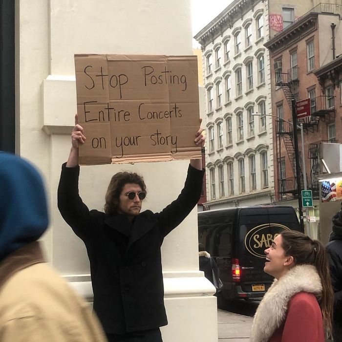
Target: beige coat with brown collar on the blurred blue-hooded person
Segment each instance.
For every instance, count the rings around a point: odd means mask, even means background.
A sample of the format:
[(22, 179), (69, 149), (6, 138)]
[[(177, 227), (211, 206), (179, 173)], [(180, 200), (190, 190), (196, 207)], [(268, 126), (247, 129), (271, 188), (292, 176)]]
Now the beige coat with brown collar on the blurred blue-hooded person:
[(43, 261), (38, 242), (0, 262), (1, 342), (105, 342), (88, 305)]

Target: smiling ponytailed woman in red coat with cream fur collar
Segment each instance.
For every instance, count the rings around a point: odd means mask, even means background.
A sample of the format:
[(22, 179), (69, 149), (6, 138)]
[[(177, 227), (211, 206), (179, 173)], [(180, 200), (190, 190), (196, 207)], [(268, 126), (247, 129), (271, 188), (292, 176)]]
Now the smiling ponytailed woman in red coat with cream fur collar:
[(265, 254), (264, 271), (276, 279), (256, 311), (251, 341), (324, 342), (334, 295), (321, 242), (283, 231)]

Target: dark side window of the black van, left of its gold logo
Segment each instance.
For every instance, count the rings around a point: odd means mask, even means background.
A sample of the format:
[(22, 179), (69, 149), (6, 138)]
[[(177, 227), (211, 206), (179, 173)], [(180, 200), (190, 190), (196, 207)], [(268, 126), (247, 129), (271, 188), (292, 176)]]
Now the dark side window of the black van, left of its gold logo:
[(198, 241), (211, 256), (231, 256), (233, 222), (227, 211), (198, 215)]

